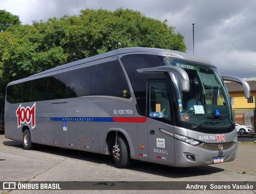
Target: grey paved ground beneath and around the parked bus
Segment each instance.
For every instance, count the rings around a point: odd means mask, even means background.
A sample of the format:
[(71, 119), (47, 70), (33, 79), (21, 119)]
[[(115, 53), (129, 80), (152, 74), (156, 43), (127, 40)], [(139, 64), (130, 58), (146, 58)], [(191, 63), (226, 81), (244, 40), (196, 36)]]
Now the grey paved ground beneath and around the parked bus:
[[(244, 137), (242, 137), (244, 138)], [(239, 138), (241, 139), (241, 138)], [(256, 138), (252, 138), (254, 140)], [(251, 141), (252, 141), (251, 140)], [(255, 141), (255, 140), (254, 140)], [(253, 141), (252, 141), (253, 142)], [(132, 161), (128, 169), (118, 169), (107, 155), (42, 146), (22, 149), (21, 141), (6, 139), (0, 133), (0, 181), (203, 181), (256, 182), (256, 143), (239, 142), (238, 156), (229, 163), (191, 168), (175, 168)], [(9, 190), (2, 193), (239, 193), (253, 190)]]

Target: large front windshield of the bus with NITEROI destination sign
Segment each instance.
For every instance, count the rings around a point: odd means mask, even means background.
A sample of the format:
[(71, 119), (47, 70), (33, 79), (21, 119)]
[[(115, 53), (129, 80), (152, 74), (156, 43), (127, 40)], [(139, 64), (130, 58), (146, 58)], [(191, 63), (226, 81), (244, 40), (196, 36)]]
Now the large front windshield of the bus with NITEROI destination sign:
[(188, 73), (190, 91), (178, 88), (178, 79), (171, 73), (177, 90), (181, 120), (204, 127), (228, 127), (234, 122), (230, 98), (217, 69), (196, 63), (166, 59), (166, 65), (180, 67)]

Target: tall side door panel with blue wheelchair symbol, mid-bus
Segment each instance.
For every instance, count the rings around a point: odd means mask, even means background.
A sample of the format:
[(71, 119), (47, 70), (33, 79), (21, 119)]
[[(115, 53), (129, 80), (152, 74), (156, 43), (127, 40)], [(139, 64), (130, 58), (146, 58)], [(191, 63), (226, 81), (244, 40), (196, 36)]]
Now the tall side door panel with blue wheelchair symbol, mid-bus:
[(52, 100), (52, 145), (68, 147), (67, 145), (67, 100)]

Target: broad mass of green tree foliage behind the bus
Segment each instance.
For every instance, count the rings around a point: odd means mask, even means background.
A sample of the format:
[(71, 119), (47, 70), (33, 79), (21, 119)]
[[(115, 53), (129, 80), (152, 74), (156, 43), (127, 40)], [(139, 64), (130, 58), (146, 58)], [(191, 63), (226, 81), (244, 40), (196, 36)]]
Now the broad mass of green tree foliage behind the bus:
[(12, 20), (5, 19), (8, 24), (2, 23), (0, 28), (3, 31), (0, 32), (2, 94), (12, 80), (117, 49), (118, 43), (121, 43), (120, 48), (155, 47), (186, 51), (184, 36), (175, 33), (175, 27), (168, 26), (167, 20), (161, 22), (147, 18), (139, 11), (86, 9), (78, 16), (34, 21), (32, 25), (14, 25), (20, 24), (18, 16), (5, 10), (0, 10), (1, 22), (6, 14)]

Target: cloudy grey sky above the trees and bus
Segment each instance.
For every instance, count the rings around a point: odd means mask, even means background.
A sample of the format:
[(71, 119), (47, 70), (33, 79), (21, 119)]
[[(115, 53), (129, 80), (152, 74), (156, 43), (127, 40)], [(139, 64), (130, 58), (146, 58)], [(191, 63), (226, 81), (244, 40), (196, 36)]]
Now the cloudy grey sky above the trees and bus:
[(256, 77), (256, 0), (0, 0), (0, 9), (20, 17), (22, 24), (80, 10), (139, 10), (176, 27), (185, 36), (187, 53), (208, 59), (222, 75)]

